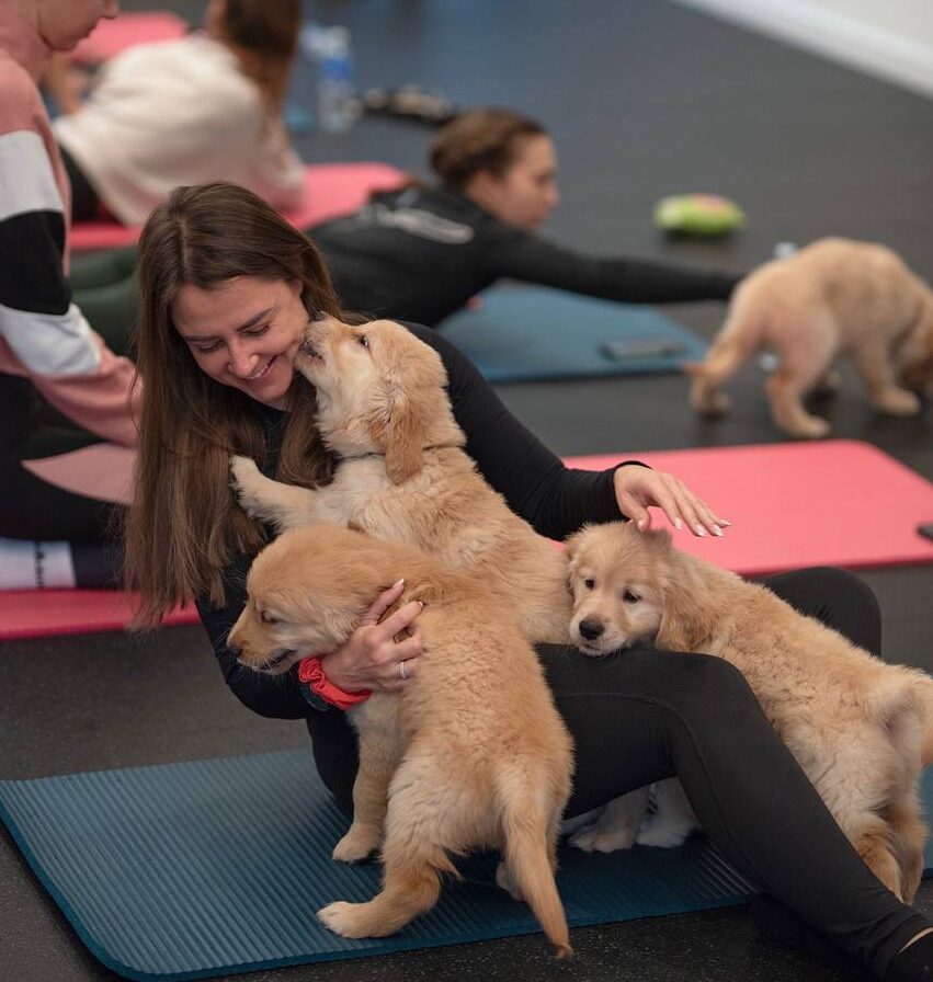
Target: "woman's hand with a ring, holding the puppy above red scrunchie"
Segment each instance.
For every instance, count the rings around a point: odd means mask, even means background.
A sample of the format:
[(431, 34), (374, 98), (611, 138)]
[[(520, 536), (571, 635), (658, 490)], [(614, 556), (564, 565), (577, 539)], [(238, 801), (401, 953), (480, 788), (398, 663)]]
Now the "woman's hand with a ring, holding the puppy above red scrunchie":
[(423, 650), (421, 637), (416, 632), (398, 643), (392, 639), (414, 620), (424, 604), (412, 601), (379, 624), (379, 618), (401, 596), (403, 589), (405, 581), (399, 580), (383, 591), (343, 648), (321, 659), (325, 674), (338, 688), (345, 693), (366, 688), (398, 692), (418, 671), (418, 659)]

